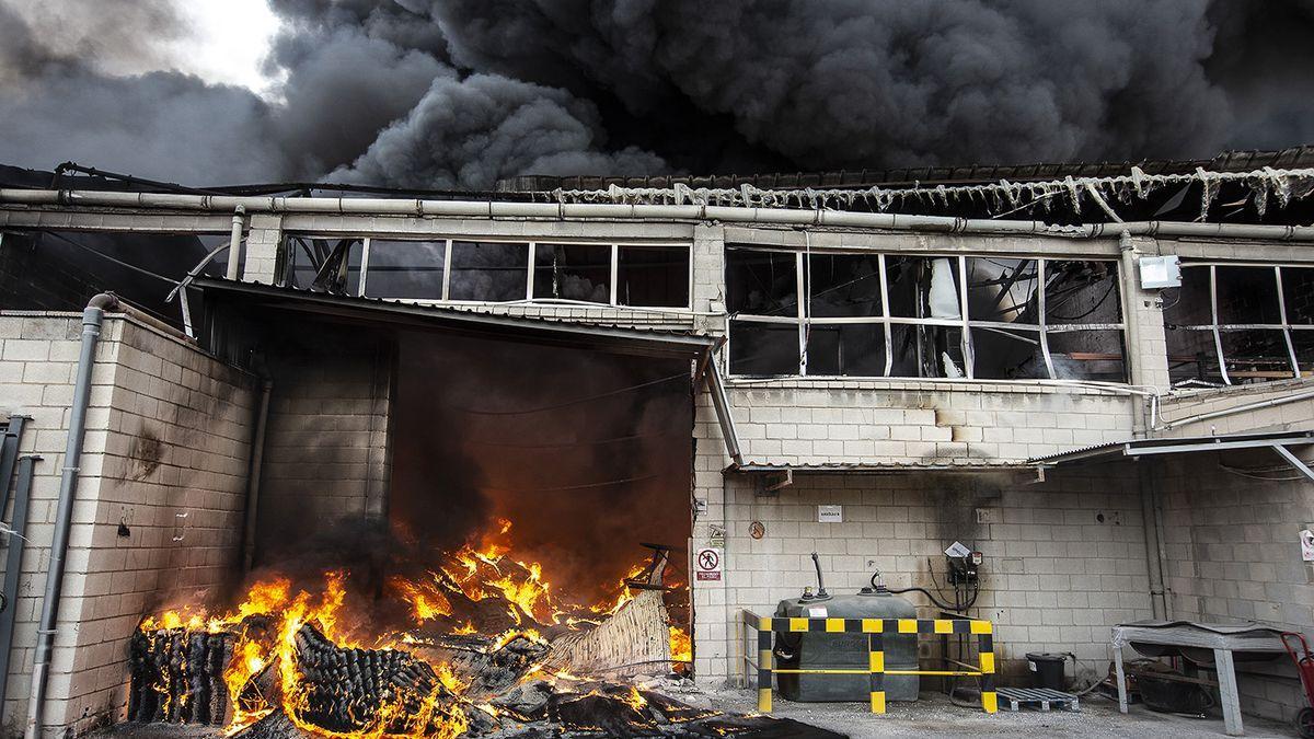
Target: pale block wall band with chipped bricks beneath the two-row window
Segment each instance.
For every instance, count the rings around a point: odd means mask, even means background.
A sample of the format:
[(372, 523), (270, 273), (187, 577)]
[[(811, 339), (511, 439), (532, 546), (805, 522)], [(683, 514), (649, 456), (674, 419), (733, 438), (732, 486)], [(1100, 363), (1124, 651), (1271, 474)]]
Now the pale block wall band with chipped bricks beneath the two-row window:
[(1035, 383), (729, 380), (745, 462), (1017, 464), (1133, 435), (1131, 396)]

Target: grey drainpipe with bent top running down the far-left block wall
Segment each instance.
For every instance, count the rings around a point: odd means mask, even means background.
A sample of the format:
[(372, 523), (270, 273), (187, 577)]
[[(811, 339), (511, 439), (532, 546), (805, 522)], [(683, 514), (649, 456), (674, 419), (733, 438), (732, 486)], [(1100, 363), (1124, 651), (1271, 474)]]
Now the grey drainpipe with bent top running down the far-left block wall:
[(41, 714), (46, 700), (46, 679), (50, 673), (50, 654), (55, 643), (55, 619), (59, 615), (59, 590), (64, 580), (64, 556), (68, 554), (68, 530), (74, 518), (74, 497), (78, 493), (78, 463), (81, 459), (83, 437), (87, 431), (87, 405), (91, 400), (91, 370), (96, 363), (96, 343), (106, 310), (118, 309), (114, 293), (92, 297), (83, 310), (81, 354), (78, 356), (78, 379), (74, 384), (74, 402), (68, 416), (68, 438), (64, 443), (63, 468), (59, 476), (59, 502), (55, 509), (55, 533), (50, 542), (50, 568), (46, 572), (46, 594), (41, 600), (41, 622), (37, 627), (37, 656), (32, 669), (32, 694), (28, 700), (28, 728), (25, 739), (41, 735)]

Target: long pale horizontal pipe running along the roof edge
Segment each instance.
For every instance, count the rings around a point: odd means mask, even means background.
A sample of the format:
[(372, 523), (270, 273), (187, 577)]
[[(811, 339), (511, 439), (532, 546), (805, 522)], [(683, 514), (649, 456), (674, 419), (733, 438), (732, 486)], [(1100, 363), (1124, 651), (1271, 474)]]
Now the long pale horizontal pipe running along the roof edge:
[(720, 205), (627, 205), (619, 203), (510, 203), (490, 200), (405, 200), (360, 197), (252, 197), (222, 195), (173, 195), (160, 192), (102, 192), (79, 189), (0, 188), (0, 204), (95, 205), (109, 208), (162, 208), (235, 213), (321, 213), (448, 218), (551, 218), (551, 220), (691, 220), (790, 226), (838, 226), (941, 233), (1041, 234), (1097, 238), (1126, 231), (1130, 235), (1251, 238), (1314, 241), (1314, 226), (1251, 224), (1197, 224), (1137, 221), (1129, 224), (1083, 224), (1054, 226), (1043, 221), (851, 213), (783, 208), (733, 208)]

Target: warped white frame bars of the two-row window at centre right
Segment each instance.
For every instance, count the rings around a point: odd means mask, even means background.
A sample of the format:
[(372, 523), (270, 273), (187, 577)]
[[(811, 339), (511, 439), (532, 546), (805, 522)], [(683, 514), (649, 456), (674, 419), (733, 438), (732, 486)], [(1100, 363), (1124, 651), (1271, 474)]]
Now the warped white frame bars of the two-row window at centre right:
[[(972, 329), (986, 329), (986, 330), (1012, 330), (1012, 331), (1031, 331), (1034, 330), (1039, 338), (1041, 354), (1045, 359), (1045, 371), (1049, 377), (1039, 377), (1039, 380), (1055, 380), (1060, 379), (1055, 376), (1054, 359), (1050, 352), (1049, 334), (1051, 333), (1070, 333), (1070, 331), (1120, 331), (1122, 337), (1122, 363), (1123, 363), (1123, 380), (1126, 384), (1126, 371), (1127, 371), (1127, 347), (1126, 347), (1126, 326), (1127, 317), (1125, 306), (1122, 305), (1122, 266), (1117, 259), (1110, 259), (1108, 256), (1096, 258), (1083, 258), (1083, 256), (1060, 256), (1060, 258), (1047, 258), (1038, 255), (1003, 255), (1003, 254), (901, 254), (901, 252), (888, 252), (888, 251), (869, 251), (869, 250), (833, 250), (827, 249), (824, 251), (808, 251), (808, 250), (790, 250), (778, 247), (766, 247), (756, 245), (727, 245), (728, 251), (765, 251), (777, 254), (794, 254), (794, 267), (795, 267), (795, 281), (796, 281), (796, 295), (795, 300), (795, 314), (794, 316), (754, 316), (750, 313), (733, 313), (727, 317), (727, 330), (725, 341), (727, 347), (724, 355), (731, 356), (729, 345), (735, 341), (732, 326), (735, 322), (750, 322), (750, 323), (798, 323), (799, 326), (799, 372), (798, 377), (853, 377), (853, 379), (897, 379), (897, 380), (929, 380), (929, 381), (961, 381), (961, 380), (976, 380), (976, 354), (972, 342)], [(865, 255), (878, 258), (878, 276), (880, 280), (880, 316), (838, 316), (838, 317), (824, 317), (816, 318), (809, 316), (812, 295), (809, 289), (809, 256), (813, 254), (824, 255)], [(958, 280), (958, 305), (961, 316), (958, 318), (916, 318), (916, 317), (901, 317), (890, 314), (890, 280), (888, 270), (886, 264), (887, 256), (915, 256), (921, 259), (951, 259), (957, 264), (959, 280)], [(982, 321), (971, 318), (970, 300), (968, 300), (968, 279), (967, 279), (967, 259), (970, 258), (999, 258), (999, 259), (1018, 259), (1037, 263), (1037, 296), (1038, 296), (1038, 314), (1037, 323), (1014, 323), (1008, 321)], [(1045, 279), (1046, 279), (1046, 263), (1049, 262), (1105, 262), (1113, 268), (1113, 280), (1118, 287), (1118, 316), (1121, 321), (1117, 323), (1049, 323), (1046, 316), (1045, 305)], [(727, 259), (727, 268), (729, 267), (729, 260)], [(728, 284), (728, 279), (725, 280)], [(880, 325), (884, 333), (884, 372), (882, 375), (808, 375), (807, 372), (807, 341), (808, 329), (812, 325), (842, 325), (842, 323), (855, 323), (855, 325)], [(894, 368), (894, 337), (892, 327), (895, 325), (908, 325), (908, 326), (943, 326), (943, 327), (958, 327), (962, 329), (962, 352), (963, 352), (963, 377), (922, 377), (922, 376), (896, 376), (891, 375)], [(1314, 326), (1311, 326), (1314, 329)], [(735, 375), (727, 364), (727, 371), (732, 376), (753, 377), (753, 375)], [(1034, 381), (1034, 379), (1022, 380), (982, 380), (982, 381)], [(1079, 380), (1079, 381), (1099, 381), (1099, 380)]]

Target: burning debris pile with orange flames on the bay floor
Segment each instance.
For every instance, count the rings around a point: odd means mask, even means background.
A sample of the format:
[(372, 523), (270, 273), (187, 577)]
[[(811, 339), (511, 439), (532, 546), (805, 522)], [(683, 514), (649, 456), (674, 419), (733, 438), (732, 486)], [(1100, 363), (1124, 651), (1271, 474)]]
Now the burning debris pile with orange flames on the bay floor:
[(386, 581), (382, 597), (406, 608), (402, 629), (361, 618), (344, 571), (326, 573), (317, 594), (265, 579), (231, 613), (168, 611), (142, 622), (129, 718), (225, 726), (227, 736), (247, 739), (714, 736), (778, 727), (618, 679), (689, 659), (687, 635), (662, 605), (668, 551), (653, 551), (603, 602), (576, 605), (552, 592), (537, 563), (510, 556), (509, 544), (468, 544), (423, 579)]

